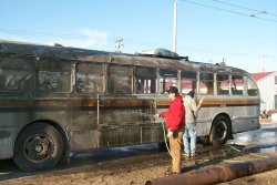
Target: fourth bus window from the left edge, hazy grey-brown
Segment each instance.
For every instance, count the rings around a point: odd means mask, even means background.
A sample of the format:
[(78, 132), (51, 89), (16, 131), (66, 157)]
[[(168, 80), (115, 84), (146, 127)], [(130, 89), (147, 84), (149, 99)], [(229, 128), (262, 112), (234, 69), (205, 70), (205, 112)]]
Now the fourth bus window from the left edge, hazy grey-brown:
[(132, 93), (133, 70), (127, 65), (110, 64), (107, 66), (107, 91), (111, 94)]

